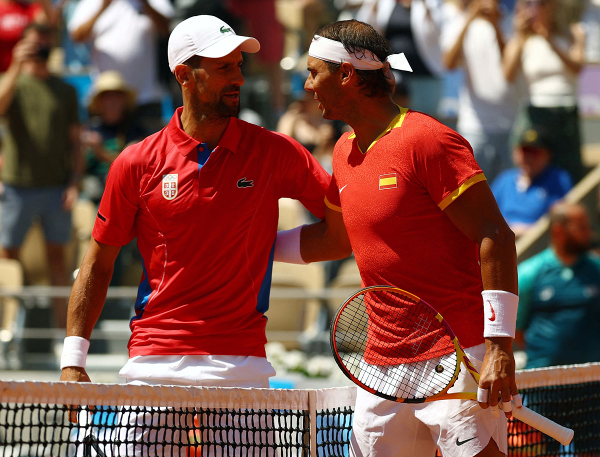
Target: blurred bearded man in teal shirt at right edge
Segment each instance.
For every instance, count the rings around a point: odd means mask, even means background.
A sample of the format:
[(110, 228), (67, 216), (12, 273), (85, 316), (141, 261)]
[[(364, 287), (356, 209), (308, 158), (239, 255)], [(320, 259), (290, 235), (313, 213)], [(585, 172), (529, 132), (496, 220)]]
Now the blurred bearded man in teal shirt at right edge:
[(586, 208), (557, 203), (551, 246), (518, 266), (515, 343), (524, 345), (526, 368), (600, 360), (600, 257), (591, 239)]

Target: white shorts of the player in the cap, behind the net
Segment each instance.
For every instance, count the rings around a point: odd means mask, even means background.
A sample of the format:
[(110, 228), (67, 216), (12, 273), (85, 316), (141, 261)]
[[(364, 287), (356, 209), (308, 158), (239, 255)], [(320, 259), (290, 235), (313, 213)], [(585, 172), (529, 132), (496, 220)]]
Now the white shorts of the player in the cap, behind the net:
[[(137, 356), (132, 357), (119, 371), (127, 378), (128, 384), (156, 385), (171, 384), (180, 386), (216, 386), (216, 387), (269, 387), (269, 377), (275, 370), (265, 357), (253, 356)], [(169, 408), (135, 408), (123, 406), (116, 414), (115, 428), (91, 426), (92, 414), (82, 411), (79, 414), (77, 441), (89, 434), (95, 434), (100, 441), (100, 450), (107, 457), (124, 455), (148, 457), (189, 457), (190, 441), (200, 438), (205, 443), (215, 443), (223, 438), (215, 434), (211, 427), (215, 421), (220, 428), (228, 430), (227, 441), (239, 441), (239, 431), (256, 426), (261, 421), (262, 428), (272, 429), (266, 423), (270, 418), (257, 415), (239, 414), (193, 414), (192, 411), (172, 411)], [(137, 425), (137, 426), (136, 426)], [(194, 426), (204, 425), (202, 432), (190, 431)], [(196, 434), (196, 435), (194, 435)], [(104, 444), (113, 443), (113, 444)], [(238, 455), (228, 446), (215, 449), (196, 449), (203, 457), (221, 457)], [(248, 447), (242, 452), (248, 457), (270, 457), (272, 450)], [(239, 454), (239, 455), (242, 455)], [(83, 446), (77, 449), (77, 455), (83, 456)], [(92, 450), (92, 455), (96, 455)]]

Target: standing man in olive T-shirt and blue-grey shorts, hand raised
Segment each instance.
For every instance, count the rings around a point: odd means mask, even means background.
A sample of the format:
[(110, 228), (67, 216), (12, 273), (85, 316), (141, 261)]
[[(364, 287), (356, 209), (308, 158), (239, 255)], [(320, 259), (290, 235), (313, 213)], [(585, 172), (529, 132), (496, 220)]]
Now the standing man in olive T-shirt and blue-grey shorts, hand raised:
[[(44, 230), (52, 285), (70, 284), (65, 244), (71, 237), (71, 209), (79, 193), (83, 160), (75, 89), (47, 65), (53, 30), (30, 24), (13, 49), (0, 79), (2, 140), (0, 255), (18, 258), (32, 220)], [(55, 325), (65, 327), (64, 299), (54, 300)]]

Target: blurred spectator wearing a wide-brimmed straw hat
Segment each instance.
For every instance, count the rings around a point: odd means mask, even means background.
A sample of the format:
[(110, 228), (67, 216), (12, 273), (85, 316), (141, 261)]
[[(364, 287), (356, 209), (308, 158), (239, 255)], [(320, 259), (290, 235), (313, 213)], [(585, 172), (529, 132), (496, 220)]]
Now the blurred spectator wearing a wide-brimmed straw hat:
[(82, 198), (100, 202), (110, 164), (126, 146), (143, 138), (143, 131), (133, 116), (136, 92), (121, 73), (100, 73), (89, 102), (91, 120), (82, 128), (86, 176), (82, 181)]

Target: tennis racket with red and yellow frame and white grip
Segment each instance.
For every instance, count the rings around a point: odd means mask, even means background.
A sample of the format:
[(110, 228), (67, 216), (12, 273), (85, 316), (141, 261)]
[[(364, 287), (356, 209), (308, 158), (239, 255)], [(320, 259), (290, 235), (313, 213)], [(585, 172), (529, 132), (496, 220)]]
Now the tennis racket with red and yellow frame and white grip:
[[(448, 323), (424, 300), (391, 286), (366, 287), (341, 304), (331, 323), (331, 351), (344, 374), (387, 400), (423, 403), (477, 400), (475, 392), (448, 393), (461, 363), (479, 384)], [(512, 415), (565, 446), (572, 429), (513, 405)]]

